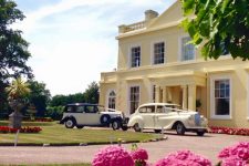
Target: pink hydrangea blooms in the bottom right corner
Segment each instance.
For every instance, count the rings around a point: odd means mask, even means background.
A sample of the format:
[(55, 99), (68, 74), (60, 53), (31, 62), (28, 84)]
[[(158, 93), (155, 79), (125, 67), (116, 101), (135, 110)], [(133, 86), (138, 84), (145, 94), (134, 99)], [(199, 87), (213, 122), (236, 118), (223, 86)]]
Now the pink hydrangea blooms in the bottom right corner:
[(249, 142), (224, 148), (218, 157), (221, 166), (249, 166)]

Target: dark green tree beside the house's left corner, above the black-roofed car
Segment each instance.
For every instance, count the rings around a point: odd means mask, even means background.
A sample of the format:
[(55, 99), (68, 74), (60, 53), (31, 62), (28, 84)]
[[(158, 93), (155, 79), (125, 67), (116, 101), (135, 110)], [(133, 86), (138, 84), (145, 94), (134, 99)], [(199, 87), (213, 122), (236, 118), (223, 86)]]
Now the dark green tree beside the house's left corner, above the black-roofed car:
[(87, 103), (98, 103), (98, 84), (96, 82), (92, 82), (89, 87), (85, 90), (85, 102)]

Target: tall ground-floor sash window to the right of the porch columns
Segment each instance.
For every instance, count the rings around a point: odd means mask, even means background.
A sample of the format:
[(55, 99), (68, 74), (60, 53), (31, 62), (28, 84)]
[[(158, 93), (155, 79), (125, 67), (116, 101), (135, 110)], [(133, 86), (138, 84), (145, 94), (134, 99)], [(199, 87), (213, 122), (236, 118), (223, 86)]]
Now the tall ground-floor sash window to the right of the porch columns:
[(230, 79), (215, 79), (212, 83), (214, 116), (230, 116)]

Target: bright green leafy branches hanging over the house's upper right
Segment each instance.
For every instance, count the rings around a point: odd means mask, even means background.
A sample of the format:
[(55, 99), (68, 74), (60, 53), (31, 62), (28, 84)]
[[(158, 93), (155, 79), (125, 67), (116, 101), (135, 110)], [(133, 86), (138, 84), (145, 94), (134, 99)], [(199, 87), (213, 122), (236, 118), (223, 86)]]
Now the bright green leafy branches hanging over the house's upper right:
[(249, 60), (248, 0), (181, 0), (183, 27), (205, 59), (218, 59), (225, 51), (234, 59)]

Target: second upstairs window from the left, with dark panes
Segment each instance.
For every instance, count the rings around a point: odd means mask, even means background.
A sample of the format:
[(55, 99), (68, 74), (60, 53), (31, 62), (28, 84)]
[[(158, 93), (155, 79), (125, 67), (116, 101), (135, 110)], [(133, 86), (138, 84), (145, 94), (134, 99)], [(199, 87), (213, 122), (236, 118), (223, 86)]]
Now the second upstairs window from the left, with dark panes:
[(164, 52), (165, 52), (164, 42), (159, 42), (159, 43), (154, 44), (154, 64), (164, 63)]

